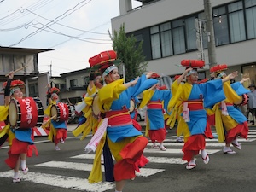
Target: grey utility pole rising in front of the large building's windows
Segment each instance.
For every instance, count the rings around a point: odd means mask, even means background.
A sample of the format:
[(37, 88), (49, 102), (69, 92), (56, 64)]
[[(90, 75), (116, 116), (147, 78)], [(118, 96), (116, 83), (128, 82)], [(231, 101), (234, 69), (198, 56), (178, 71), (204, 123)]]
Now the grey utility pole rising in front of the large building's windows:
[(210, 0), (204, 0), (204, 9), (206, 15), (206, 26), (207, 26), (207, 47), (210, 67), (217, 64), (216, 51), (215, 51), (215, 37), (212, 19), (212, 5)]

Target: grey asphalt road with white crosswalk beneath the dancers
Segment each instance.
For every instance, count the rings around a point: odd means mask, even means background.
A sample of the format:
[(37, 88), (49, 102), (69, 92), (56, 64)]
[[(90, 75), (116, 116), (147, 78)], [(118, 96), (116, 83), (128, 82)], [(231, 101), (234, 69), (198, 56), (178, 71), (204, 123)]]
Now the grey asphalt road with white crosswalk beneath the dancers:
[[(27, 160), (29, 173), (22, 175), (20, 183), (11, 183), (13, 172), (3, 163), (8, 148), (0, 149), (0, 189), (12, 192), (113, 192), (113, 183), (90, 184), (90, 174), (94, 154), (84, 154), (84, 146), (89, 138), (80, 141), (71, 132), (74, 125), (69, 126), (68, 139), (61, 145), (61, 151), (54, 150), (54, 144), (47, 137), (37, 137), (38, 157)], [(250, 128), (247, 141), (241, 139), (242, 150), (235, 155), (222, 153), (223, 143), (217, 139), (207, 140), (207, 152), (210, 162), (205, 165), (201, 157), (197, 157), (194, 170), (186, 170), (181, 160), (183, 143), (175, 142), (175, 130), (169, 131), (166, 138), (167, 150), (145, 149), (150, 162), (134, 181), (127, 181), (124, 192), (254, 192), (256, 191), (256, 129)], [(103, 168), (103, 167), (102, 167)]]

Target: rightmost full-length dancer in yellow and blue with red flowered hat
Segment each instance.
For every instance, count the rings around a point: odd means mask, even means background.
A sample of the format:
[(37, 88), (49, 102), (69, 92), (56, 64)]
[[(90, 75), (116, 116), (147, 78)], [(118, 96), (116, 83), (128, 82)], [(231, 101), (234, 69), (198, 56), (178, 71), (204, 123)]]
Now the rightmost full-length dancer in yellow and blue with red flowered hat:
[[(226, 64), (217, 65), (211, 68), (211, 72), (215, 74), (215, 79), (226, 78), (225, 70), (228, 67)], [(241, 144), (237, 142), (237, 137), (247, 139), (248, 125), (247, 118), (241, 111), (234, 106), (235, 103), (241, 102), (241, 96), (249, 92), (242, 85), (248, 79), (241, 79), (240, 82), (230, 84), (230, 81), (224, 83), (224, 94), (226, 99), (214, 106), (215, 112), (215, 127), (218, 133), (218, 142), (225, 141), (223, 149), (224, 154), (236, 154), (230, 148), (232, 144), (235, 148), (241, 150)]]

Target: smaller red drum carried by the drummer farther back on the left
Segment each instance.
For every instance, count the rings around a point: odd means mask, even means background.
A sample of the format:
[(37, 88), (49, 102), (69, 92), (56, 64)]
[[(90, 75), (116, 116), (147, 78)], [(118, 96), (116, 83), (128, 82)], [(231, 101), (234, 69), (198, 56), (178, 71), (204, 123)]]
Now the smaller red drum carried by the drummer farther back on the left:
[(50, 116), (54, 117), (53, 120), (56, 122), (71, 119), (71, 115), (72, 107), (64, 102), (58, 102), (50, 108)]

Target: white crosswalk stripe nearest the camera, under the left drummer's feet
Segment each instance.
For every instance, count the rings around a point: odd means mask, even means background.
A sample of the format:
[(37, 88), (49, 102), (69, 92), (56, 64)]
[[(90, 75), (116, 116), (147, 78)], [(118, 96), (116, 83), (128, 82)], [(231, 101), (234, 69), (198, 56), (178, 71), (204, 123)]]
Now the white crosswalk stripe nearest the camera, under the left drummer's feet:
[[(0, 177), (13, 177), (13, 174), (13, 171), (1, 172)], [(29, 174), (23, 175), (21, 179), (32, 183), (90, 192), (102, 192), (114, 188), (114, 184), (110, 182), (89, 183), (88, 179), (85, 178), (66, 177), (42, 172), (29, 172)]]

